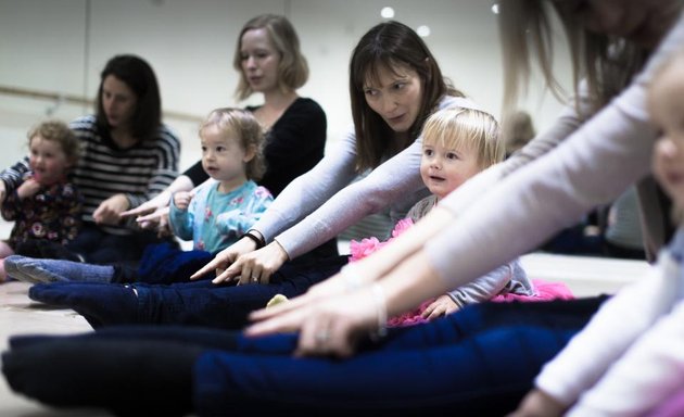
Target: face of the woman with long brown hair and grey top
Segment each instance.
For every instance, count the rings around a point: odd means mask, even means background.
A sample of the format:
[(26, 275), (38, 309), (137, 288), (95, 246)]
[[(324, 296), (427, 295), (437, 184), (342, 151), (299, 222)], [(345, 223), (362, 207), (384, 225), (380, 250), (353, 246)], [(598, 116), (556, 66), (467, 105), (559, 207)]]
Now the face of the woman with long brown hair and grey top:
[(407, 66), (378, 68), (378, 78), (367, 77), (364, 96), (370, 109), (396, 132), (414, 125), (422, 102), (422, 83), (418, 73)]

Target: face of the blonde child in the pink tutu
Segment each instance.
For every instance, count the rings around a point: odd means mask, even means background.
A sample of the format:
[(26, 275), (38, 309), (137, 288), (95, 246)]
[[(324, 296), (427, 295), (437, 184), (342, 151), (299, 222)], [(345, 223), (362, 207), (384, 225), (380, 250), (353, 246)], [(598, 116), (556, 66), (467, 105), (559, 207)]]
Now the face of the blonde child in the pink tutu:
[(422, 146), (420, 176), (430, 192), (440, 199), (480, 170), (474, 149), (449, 149), (441, 143)]

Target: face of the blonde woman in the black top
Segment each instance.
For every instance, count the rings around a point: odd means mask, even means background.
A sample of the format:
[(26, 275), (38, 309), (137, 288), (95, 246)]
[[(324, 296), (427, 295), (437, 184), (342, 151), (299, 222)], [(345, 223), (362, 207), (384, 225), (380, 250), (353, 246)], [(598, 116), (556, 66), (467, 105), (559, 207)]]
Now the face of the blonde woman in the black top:
[(265, 28), (246, 30), (240, 40), (242, 73), (254, 91), (278, 88), (280, 52), (274, 47)]

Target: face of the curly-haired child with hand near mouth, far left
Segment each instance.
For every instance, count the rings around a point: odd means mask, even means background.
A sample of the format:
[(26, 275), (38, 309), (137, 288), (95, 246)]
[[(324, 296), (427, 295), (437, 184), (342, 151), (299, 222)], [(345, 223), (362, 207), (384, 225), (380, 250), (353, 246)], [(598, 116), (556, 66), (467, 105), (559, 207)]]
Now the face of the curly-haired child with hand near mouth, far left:
[(28, 164), (36, 181), (49, 186), (64, 179), (71, 163), (59, 142), (36, 135), (30, 139), (28, 150)]

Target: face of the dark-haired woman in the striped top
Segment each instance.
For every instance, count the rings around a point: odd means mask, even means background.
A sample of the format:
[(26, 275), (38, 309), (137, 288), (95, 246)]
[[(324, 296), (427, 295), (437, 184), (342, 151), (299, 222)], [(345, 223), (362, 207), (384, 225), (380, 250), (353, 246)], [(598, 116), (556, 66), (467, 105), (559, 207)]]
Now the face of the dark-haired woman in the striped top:
[(136, 114), (138, 98), (128, 85), (113, 75), (102, 81), (102, 109), (113, 129), (127, 128)]

